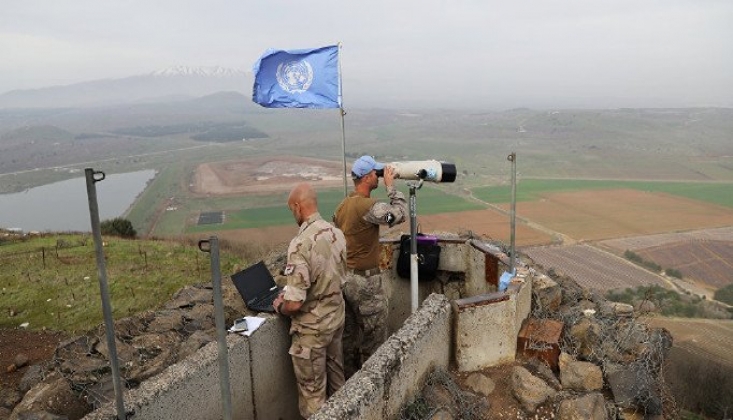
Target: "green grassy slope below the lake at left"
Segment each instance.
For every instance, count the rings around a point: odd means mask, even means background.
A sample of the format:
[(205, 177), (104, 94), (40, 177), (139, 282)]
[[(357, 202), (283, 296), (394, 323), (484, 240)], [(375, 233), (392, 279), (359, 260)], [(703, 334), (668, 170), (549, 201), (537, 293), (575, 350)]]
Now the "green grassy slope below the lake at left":
[[(185, 285), (211, 282), (211, 254), (194, 243), (104, 238), (109, 299), (115, 319), (156, 309)], [(243, 258), (220, 244), (221, 273)], [(46, 234), (0, 242), (0, 328), (78, 333), (103, 322), (94, 240)], [(12, 314), (12, 315), (11, 315)]]

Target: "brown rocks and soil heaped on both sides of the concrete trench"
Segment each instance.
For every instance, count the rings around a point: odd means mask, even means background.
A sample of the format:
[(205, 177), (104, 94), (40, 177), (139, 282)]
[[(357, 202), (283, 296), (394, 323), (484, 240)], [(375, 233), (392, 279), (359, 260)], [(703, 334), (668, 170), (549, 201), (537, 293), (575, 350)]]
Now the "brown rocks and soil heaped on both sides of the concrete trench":
[[(282, 258), (273, 256), (268, 266)], [(559, 369), (552, 371), (533, 358), (477, 372), (436, 371), (418, 399), (404, 407), (401, 419), (569, 419), (579, 418), (573, 417), (577, 413), (606, 419), (615, 406), (647, 412), (649, 419), (666, 417), (657, 374), (671, 346), (668, 333), (638, 324), (630, 305), (608, 302), (562, 275), (552, 277), (556, 281), (535, 281), (531, 316), (563, 323), (566, 337), (556, 343), (562, 350)], [(246, 308), (227, 286), (229, 323)], [(155, 313), (115, 323), (118, 358), (129, 387), (213, 340), (211, 296), (209, 285), (189, 286)], [(71, 339), (6, 329), (0, 330), (0, 343), (0, 420), (11, 418), (12, 410), (63, 413), (75, 420), (111, 401), (103, 328)]]

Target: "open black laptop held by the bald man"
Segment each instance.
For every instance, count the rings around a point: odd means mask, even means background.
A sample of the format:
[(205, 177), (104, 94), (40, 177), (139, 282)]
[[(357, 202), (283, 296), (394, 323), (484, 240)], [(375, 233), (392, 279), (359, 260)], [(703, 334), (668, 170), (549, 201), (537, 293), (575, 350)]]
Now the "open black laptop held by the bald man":
[(232, 274), (232, 281), (248, 309), (257, 312), (275, 312), (272, 301), (282, 289), (275, 284), (275, 279), (272, 278), (264, 261)]

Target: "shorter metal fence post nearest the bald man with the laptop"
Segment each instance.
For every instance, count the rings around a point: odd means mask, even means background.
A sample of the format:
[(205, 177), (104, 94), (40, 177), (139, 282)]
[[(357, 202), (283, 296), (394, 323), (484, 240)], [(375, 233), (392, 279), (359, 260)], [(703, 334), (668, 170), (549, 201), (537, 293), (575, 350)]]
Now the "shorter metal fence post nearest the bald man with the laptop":
[(216, 319), (216, 335), (219, 344), (219, 383), (224, 420), (232, 418), (232, 396), (229, 385), (229, 352), (227, 350), (227, 332), (224, 320), (224, 300), (221, 293), (221, 269), (219, 267), (219, 238), (210, 236), (209, 240), (199, 241), (199, 249), (211, 254), (211, 283), (214, 288), (214, 318)]

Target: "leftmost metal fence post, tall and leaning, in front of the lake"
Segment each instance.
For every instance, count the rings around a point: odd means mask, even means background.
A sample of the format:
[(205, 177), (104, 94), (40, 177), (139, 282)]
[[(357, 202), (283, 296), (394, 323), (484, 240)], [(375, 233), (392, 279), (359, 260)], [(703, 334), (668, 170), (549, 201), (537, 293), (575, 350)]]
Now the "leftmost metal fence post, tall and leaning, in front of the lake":
[(92, 168), (84, 169), (87, 180), (87, 198), (89, 200), (89, 216), (92, 222), (92, 235), (94, 236), (94, 249), (97, 257), (97, 274), (99, 275), (99, 290), (102, 295), (102, 313), (104, 314), (104, 330), (107, 335), (107, 347), (109, 348), (109, 364), (112, 369), (112, 383), (115, 391), (115, 404), (117, 406), (117, 418), (127, 419), (125, 404), (122, 400), (122, 381), (120, 380), (120, 367), (117, 360), (117, 345), (115, 343), (114, 323), (112, 322), (112, 305), (109, 300), (109, 288), (107, 287), (107, 269), (104, 262), (104, 250), (102, 248), (102, 233), (99, 227), (99, 207), (97, 205), (97, 189), (94, 184), (103, 181), (104, 172), (94, 171)]

